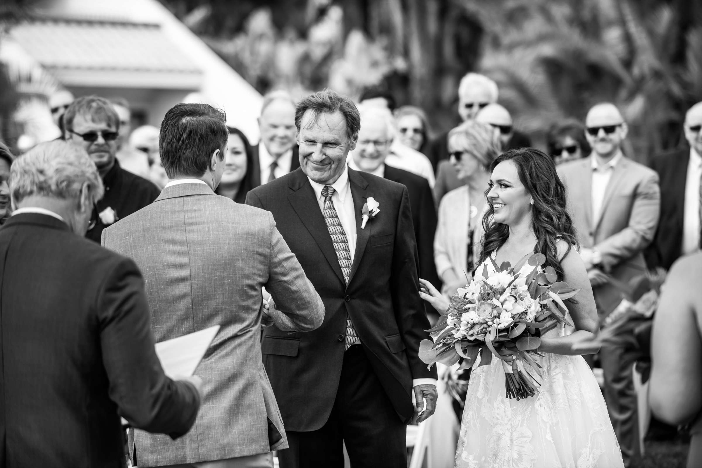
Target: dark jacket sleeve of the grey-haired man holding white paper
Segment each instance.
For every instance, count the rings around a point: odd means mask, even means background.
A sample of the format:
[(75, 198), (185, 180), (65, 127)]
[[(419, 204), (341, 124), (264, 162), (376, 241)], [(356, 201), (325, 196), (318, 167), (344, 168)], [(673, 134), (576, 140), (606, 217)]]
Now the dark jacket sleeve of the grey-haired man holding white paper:
[(115, 265), (95, 307), (110, 399), (117, 403), (119, 415), (147, 432), (173, 439), (186, 434), (197, 417), (200, 397), (190, 383), (171, 380), (161, 368), (143, 279), (133, 261), (123, 259)]

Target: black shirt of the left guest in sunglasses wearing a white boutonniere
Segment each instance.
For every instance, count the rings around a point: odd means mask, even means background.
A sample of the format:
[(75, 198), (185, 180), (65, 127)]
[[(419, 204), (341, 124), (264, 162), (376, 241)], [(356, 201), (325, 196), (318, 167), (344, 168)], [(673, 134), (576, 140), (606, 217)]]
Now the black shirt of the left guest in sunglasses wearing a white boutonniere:
[(102, 183), (105, 184), (105, 196), (95, 203), (92, 218), (95, 225), (86, 232), (86, 238), (97, 243), (100, 243), (102, 229), (109, 226), (102, 222), (99, 213), (112, 208), (119, 221), (150, 205), (161, 193), (159, 187), (150, 180), (121, 168), (117, 159), (114, 160), (112, 169), (102, 178)]

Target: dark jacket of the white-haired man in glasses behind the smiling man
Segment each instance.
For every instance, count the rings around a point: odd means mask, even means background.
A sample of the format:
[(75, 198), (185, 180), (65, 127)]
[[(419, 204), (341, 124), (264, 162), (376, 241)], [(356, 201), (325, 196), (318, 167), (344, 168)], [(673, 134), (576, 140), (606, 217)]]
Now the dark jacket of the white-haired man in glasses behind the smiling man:
[(434, 263), (434, 236), (437, 232), (437, 210), (429, 182), (420, 175), (385, 164), (385, 178), (407, 187), (412, 209), (414, 237), (419, 255), (419, 277), (441, 288)]

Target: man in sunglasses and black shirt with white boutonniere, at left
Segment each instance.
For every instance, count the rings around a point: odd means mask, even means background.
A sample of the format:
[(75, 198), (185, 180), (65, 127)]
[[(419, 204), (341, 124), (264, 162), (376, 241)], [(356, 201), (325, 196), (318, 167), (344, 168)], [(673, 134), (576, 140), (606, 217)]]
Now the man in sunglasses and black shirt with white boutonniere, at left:
[(86, 233), (88, 239), (100, 242), (102, 229), (149, 205), (160, 191), (119, 166), (119, 116), (110, 101), (98, 96), (78, 98), (66, 110), (64, 123), (65, 140), (86, 150), (105, 185), (105, 196), (95, 203)]

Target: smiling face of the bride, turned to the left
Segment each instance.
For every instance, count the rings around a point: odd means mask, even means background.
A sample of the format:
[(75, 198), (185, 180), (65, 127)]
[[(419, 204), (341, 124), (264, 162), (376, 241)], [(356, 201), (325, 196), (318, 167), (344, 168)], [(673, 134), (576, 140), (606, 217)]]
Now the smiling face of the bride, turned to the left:
[(495, 166), (490, 175), (487, 199), (494, 210), (494, 220), (503, 225), (517, 225), (531, 216), (531, 194), (519, 180), (517, 165), (511, 160)]

